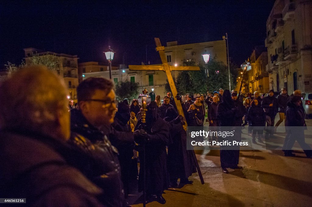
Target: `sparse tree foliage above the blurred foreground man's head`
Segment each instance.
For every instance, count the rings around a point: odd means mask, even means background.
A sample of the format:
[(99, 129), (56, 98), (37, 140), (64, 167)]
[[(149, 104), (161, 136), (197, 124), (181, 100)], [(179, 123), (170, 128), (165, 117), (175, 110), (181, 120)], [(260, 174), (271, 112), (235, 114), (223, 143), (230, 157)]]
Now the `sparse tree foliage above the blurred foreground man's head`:
[[(42, 65), (46, 66), (51, 71), (60, 70), (60, 57), (57, 57), (56, 54), (46, 53), (43, 55), (39, 55), (38, 53), (32, 54), (30, 57), (30, 65)], [(13, 64), (11, 62), (7, 62), (5, 65), (9, 74), (26, 67), (25, 62), (22, 60), (20, 65)]]

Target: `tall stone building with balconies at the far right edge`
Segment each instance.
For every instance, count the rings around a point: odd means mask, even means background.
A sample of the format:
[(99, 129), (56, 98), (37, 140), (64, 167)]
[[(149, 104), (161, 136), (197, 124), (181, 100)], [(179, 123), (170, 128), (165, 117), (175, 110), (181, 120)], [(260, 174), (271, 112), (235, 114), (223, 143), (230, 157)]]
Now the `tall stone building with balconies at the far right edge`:
[(312, 92), (312, 1), (276, 0), (266, 22), (270, 89)]

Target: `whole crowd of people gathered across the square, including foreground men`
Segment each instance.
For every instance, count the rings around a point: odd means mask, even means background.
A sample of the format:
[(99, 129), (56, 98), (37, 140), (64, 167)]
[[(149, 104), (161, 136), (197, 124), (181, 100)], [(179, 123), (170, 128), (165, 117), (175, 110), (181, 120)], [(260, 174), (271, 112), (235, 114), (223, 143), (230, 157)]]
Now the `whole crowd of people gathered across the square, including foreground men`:
[[(274, 138), (283, 120), (285, 126), (305, 126), (298, 91), (290, 97), (286, 89), (277, 98), (272, 90), (263, 99), (255, 92), (243, 102), (235, 91), (223, 89), (194, 101), (187, 96), (185, 102), (168, 92), (163, 103), (156, 95), (149, 104), (146, 122), (137, 99), (116, 107), (114, 83), (100, 77), (79, 84), (76, 104), (66, 99), (64, 81), (42, 66), (12, 74), (1, 83), (0, 94), (5, 109), (0, 112), (0, 195), (27, 198), (29, 206), (127, 206), (137, 180), (139, 192), (146, 192), (142, 202), (165, 204), (165, 189), (193, 183), (188, 177), (196, 172), (196, 161), (186, 147), (183, 120), (202, 127), (206, 108), (209, 126), (248, 125), (254, 143), (256, 137), (263, 141), (265, 123), (266, 139)], [(240, 141), (241, 130), (232, 139)], [(300, 129), (287, 131), (285, 156), (294, 156), (289, 149), (295, 140), (311, 157)], [(239, 146), (221, 147), (220, 160), (224, 173), (241, 168)]]

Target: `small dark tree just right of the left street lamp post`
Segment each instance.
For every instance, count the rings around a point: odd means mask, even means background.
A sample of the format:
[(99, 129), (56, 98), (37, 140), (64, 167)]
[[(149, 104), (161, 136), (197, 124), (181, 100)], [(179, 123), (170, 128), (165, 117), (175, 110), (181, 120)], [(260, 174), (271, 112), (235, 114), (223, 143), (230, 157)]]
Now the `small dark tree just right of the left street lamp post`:
[(139, 83), (130, 81), (120, 81), (116, 85), (116, 98), (117, 100), (124, 100), (125, 98), (137, 99), (139, 94)]

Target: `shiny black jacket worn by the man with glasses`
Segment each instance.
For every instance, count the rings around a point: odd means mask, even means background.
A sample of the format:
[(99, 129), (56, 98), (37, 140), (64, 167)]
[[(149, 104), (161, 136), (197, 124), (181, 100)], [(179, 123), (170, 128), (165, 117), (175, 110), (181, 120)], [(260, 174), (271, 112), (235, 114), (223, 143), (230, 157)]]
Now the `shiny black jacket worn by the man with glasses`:
[(106, 135), (109, 133), (92, 126), (76, 109), (71, 110), (71, 132), (74, 133), (69, 143), (97, 161), (93, 168), (88, 168), (87, 164), (81, 163), (79, 169), (86, 173), (93, 172), (93, 176), (89, 179), (105, 191), (103, 200), (108, 206), (124, 206), (118, 150), (108, 140)]

